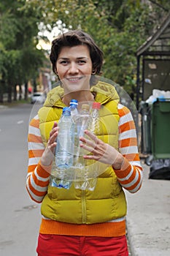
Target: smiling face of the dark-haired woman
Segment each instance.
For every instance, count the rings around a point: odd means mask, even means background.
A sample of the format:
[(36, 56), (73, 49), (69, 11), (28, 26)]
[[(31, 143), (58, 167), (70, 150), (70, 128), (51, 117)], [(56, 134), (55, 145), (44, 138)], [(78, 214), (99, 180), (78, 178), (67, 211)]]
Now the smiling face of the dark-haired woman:
[(63, 47), (56, 61), (56, 71), (65, 93), (89, 90), (92, 61), (88, 46)]

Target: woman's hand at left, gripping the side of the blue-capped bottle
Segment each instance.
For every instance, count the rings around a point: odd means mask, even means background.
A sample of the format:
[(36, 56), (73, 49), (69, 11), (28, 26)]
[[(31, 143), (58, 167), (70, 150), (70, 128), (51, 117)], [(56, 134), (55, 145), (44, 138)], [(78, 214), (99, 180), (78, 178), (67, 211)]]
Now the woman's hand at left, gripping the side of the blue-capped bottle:
[(48, 139), (47, 146), (45, 148), (45, 151), (42, 154), (42, 158), (41, 158), (42, 165), (49, 166), (53, 161), (55, 146), (57, 145), (56, 143), (57, 136), (58, 136), (58, 124), (57, 122), (54, 122), (53, 128), (50, 132), (50, 138)]

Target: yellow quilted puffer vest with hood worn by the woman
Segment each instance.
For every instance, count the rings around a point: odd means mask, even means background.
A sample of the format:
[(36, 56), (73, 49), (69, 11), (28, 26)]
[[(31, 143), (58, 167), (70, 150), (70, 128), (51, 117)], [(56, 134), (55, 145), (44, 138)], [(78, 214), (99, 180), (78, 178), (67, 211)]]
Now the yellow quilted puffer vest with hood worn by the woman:
[[(117, 103), (119, 101), (115, 88), (107, 83), (99, 82), (91, 89), (96, 94), (96, 102), (100, 102), (101, 122), (104, 142), (118, 150), (118, 121)], [(42, 140), (46, 144), (53, 122), (61, 117), (61, 101), (63, 89), (55, 88), (47, 95), (44, 107), (39, 110), (39, 128)], [(93, 191), (48, 187), (47, 195), (42, 201), (42, 215), (59, 222), (74, 224), (93, 224), (107, 222), (124, 217), (126, 201), (122, 187), (117, 181), (112, 167), (107, 167), (97, 178)]]

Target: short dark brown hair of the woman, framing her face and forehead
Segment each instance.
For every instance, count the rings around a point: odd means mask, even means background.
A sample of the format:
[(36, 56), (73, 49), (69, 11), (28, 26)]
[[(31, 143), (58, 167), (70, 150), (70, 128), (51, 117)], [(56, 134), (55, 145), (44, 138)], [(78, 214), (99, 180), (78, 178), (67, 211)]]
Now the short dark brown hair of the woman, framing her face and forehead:
[(103, 52), (96, 45), (92, 37), (89, 34), (81, 30), (71, 30), (66, 33), (59, 35), (52, 42), (52, 48), (50, 53), (50, 61), (53, 64), (53, 72), (56, 74), (56, 61), (58, 55), (61, 52), (61, 48), (64, 46), (76, 46), (76, 45), (87, 45), (90, 50), (90, 58), (92, 61), (92, 69), (96, 75), (101, 74), (101, 67), (103, 64)]

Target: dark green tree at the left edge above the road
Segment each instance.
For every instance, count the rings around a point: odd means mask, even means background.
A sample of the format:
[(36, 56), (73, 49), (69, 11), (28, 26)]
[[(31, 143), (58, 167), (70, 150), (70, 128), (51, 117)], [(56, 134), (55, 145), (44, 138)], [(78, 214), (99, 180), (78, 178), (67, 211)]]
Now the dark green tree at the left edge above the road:
[(25, 2), (3, 0), (0, 4), (0, 92), (7, 91), (8, 102), (16, 84), (35, 76), (44, 59), (42, 51), (36, 49), (38, 15), (32, 7), (23, 9)]

